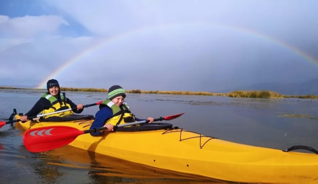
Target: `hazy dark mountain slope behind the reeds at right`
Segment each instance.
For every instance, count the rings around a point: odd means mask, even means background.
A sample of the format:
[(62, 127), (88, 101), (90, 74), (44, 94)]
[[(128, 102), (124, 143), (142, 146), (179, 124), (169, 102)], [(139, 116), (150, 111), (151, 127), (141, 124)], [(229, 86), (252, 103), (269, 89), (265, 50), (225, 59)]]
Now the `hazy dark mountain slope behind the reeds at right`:
[(268, 90), (273, 92), (279, 92), (283, 95), (318, 95), (318, 79), (312, 79), (307, 82), (300, 82), (300, 83), (259, 83), (253, 85), (245, 85), (237, 88), (232, 89), (225, 89), (216, 91), (217, 93), (228, 93), (231, 91), (236, 90), (243, 90), (243, 91), (261, 91), (261, 90)]

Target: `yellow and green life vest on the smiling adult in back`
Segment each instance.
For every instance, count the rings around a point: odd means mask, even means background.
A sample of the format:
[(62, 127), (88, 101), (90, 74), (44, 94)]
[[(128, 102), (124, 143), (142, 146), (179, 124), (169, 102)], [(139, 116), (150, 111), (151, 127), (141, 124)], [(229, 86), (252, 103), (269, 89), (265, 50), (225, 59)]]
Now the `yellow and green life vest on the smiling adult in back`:
[[(62, 99), (61, 103), (59, 102), (59, 100), (55, 96), (52, 96), (52, 95), (50, 95), (48, 93), (44, 93), (41, 98), (45, 98), (45, 99), (49, 100), (50, 103), (51, 103), (51, 107), (49, 109), (44, 109), (41, 112), (41, 114), (47, 114), (47, 113), (52, 113), (52, 112), (55, 112), (55, 111), (60, 111), (60, 110), (72, 108), (71, 105), (68, 104), (67, 101), (66, 101), (65, 93), (61, 92), (60, 93), (60, 97)], [(43, 119), (46, 119), (46, 118), (49, 118), (49, 117), (52, 117), (52, 116), (63, 117), (63, 116), (70, 115), (70, 114), (74, 114), (73, 110), (62, 112), (62, 113), (46, 115), (46, 116), (43, 116)]]

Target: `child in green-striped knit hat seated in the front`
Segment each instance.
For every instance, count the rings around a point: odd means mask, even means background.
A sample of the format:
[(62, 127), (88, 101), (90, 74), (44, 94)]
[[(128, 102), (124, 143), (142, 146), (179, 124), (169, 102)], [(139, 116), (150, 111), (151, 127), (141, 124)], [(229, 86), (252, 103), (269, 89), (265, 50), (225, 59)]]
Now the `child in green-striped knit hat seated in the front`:
[[(124, 102), (126, 97), (125, 90), (119, 85), (113, 85), (108, 90), (108, 99), (104, 100), (100, 106), (99, 111), (95, 114), (95, 120), (93, 121), (90, 129), (107, 127), (105, 131), (114, 131), (114, 125), (120, 125), (136, 121), (144, 121), (144, 119), (138, 119), (134, 114), (130, 112), (128, 104)], [(149, 123), (154, 121), (149, 117)], [(105, 124), (106, 122), (106, 124)], [(104, 133), (104, 130), (90, 133), (92, 136), (99, 136)]]

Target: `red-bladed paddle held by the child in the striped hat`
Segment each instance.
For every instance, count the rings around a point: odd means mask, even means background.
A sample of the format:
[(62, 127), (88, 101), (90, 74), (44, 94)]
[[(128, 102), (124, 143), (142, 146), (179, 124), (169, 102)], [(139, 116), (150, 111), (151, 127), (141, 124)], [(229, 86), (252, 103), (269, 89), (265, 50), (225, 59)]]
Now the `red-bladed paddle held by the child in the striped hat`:
[[(177, 117), (180, 117), (182, 114), (176, 114), (166, 117), (160, 117), (154, 119), (154, 121), (162, 120), (173, 120)], [(126, 127), (135, 124), (148, 123), (149, 120), (137, 121), (132, 123), (126, 123), (121, 125), (115, 125), (115, 128)], [(56, 148), (70, 144), (77, 136), (82, 134), (88, 134), (92, 132), (97, 132), (100, 130), (106, 130), (107, 127), (102, 127), (99, 129), (88, 129), (88, 130), (79, 130), (73, 127), (68, 126), (49, 126), (49, 127), (39, 127), (35, 129), (27, 130), (23, 135), (23, 143), (25, 148), (30, 152), (43, 152), (50, 151)]]

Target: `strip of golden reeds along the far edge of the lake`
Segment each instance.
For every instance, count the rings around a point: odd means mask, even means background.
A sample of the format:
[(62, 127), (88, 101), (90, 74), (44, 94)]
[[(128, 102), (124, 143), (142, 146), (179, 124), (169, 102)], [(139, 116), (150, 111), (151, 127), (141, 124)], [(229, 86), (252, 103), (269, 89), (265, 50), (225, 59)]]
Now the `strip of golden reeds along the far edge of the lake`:
[[(18, 87), (2, 87), (0, 89), (17, 89), (17, 90), (45, 90), (35, 88), (18, 88)], [(61, 91), (71, 92), (108, 92), (104, 88), (69, 88), (60, 87)], [(232, 91), (229, 93), (211, 93), (211, 92), (190, 92), (190, 91), (142, 91), (137, 90), (125, 90), (127, 93), (134, 94), (171, 94), (171, 95), (204, 95), (204, 96), (227, 96), (231, 98), (255, 98), (255, 99), (284, 99), (284, 98), (299, 98), (299, 99), (318, 99), (317, 95), (282, 95), (278, 92), (271, 92), (268, 90), (263, 91)]]

